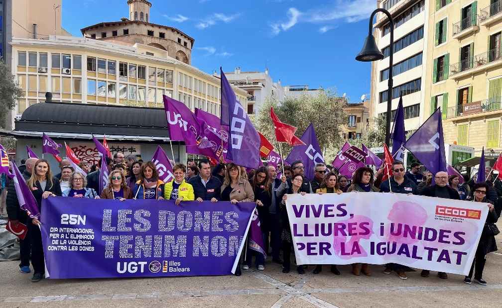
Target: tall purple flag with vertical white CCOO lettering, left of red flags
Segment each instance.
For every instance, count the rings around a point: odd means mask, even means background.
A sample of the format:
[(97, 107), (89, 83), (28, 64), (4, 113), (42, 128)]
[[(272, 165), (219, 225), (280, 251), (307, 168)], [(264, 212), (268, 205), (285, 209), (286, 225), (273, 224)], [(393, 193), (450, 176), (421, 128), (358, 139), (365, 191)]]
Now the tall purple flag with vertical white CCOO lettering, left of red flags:
[(221, 125), (229, 126), (226, 158), (237, 165), (258, 169), (260, 166), (260, 135), (240, 105), (237, 96), (221, 70)]

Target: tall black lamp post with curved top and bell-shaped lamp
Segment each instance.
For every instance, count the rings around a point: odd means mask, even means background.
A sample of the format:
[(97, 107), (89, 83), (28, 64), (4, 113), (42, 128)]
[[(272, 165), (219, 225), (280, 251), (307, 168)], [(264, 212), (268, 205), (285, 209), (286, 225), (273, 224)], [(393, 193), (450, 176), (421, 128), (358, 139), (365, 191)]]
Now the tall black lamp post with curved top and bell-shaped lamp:
[(369, 30), (368, 36), (364, 41), (364, 46), (362, 46), (361, 52), (355, 57), (355, 60), (361, 62), (372, 62), (384, 59), (384, 54), (380, 51), (378, 46), (376, 46), (375, 38), (371, 33), (373, 30), (373, 17), (376, 13), (382, 12), (389, 18), (391, 24), (391, 44), (389, 46), (389, 89), (387, 90), (387, 113), (386, 113), (386, 132), (385, 132), (385, 143), (390, 146), (391, 141), (391, 112), (392, 112), (392, 84), (393, 84), (393, 54), (394, 54), (394, 21), (389, 11), (385, 9), (376, 9), (371, 13), (369, 17)]

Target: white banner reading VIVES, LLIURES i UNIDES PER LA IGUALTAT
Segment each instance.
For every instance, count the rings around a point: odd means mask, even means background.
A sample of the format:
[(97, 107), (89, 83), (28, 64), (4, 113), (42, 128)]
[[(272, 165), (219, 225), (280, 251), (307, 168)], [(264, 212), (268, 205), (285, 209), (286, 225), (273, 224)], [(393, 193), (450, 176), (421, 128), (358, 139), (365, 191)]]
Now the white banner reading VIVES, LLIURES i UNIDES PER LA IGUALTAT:
[(486, 203), (390, 193), (288, 195), (298, 264), (398, 263), (467, 275)]

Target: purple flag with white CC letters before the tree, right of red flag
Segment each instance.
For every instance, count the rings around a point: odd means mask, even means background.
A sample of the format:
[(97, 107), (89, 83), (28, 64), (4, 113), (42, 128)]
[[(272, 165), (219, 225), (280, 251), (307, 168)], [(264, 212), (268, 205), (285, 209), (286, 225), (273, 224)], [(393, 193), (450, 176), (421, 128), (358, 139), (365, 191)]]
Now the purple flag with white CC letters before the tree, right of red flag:
[(321, 147), (319, 146), (319, 141), (317, 141), (317, 135), (315, 134), (312, 122), (300, 137), (300, 140), (305, 144), (295, 145), (286, 158), (286, 162), (293, 164), (295, 161), (302, 161), (305, 167), (305, 177), (311, 181), (314, 178), (315, 165), (324, 164)]

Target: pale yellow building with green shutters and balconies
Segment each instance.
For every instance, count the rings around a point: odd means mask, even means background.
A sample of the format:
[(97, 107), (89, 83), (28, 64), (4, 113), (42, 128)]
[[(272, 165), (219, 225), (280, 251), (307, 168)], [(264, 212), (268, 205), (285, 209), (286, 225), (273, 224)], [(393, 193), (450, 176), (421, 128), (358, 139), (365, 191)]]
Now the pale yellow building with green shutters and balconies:
[(441, 108), (444, 139), (502, 150), (502, 1), (436, 0), (429, 4), (425, 114)]

